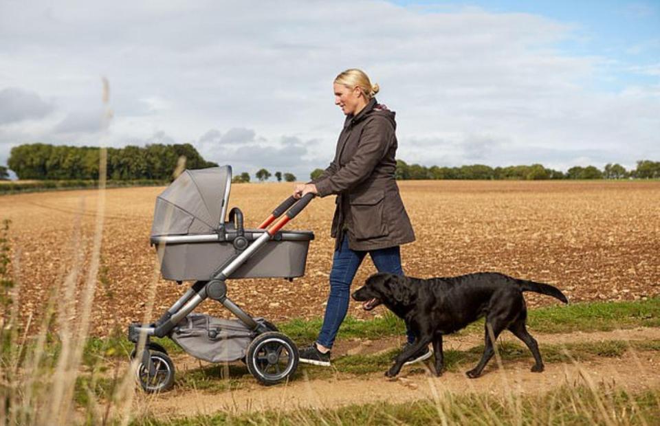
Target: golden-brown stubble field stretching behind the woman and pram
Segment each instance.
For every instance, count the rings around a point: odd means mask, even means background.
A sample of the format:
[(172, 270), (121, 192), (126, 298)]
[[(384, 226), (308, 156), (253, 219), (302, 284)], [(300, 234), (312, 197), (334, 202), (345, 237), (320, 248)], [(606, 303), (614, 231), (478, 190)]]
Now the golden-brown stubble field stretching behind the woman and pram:
[[(660, 294), (660, 182), (402, 181), (401, 196), (417, 241), (401, 249), (410, 276), (454, 276), (500, 271), (548, 282), (571, 302), (634, 300)], [(256, 227), (285, 199), (289, 183), (232, 186), (230, 207), (239, 206), (248, 227)], [(141, 320), (153, 282), (155, 250), (149, 247), (155, 197), (162, 188), (108, 190), (102, 267), (92, 322), (107, 335)], [(21, 317), (32, 322), (43, 312), (82, 250), (85, 265), (94, 238), (94, 190), (17, 194), (0, 197), (0, 218), (12, 221), (11, 247), (19, 261)], [(271, 320), (319, 317), (328, 291), (333, 240), (329, 227), (333, 197), (313, 201), (289, 225), (316, 234), (305, 277), (235, 280), (228, 294), (253, 315)], [(74, 239), (80, 224), (81, 236)], [(74, 247), (72, 247), (74, 246)], [(371, 260), (356, 284), (375, 272)], [(159, 315), (187, 286), (156, 282)], [(527, 293), (530, 306), (554, 301)], [(205, 302), (199, 309), (219, 316), (228, 311)], [(349, 315), (369, 318), (351, 302)], [(72, 313), (74, 320), (76, 313)]]

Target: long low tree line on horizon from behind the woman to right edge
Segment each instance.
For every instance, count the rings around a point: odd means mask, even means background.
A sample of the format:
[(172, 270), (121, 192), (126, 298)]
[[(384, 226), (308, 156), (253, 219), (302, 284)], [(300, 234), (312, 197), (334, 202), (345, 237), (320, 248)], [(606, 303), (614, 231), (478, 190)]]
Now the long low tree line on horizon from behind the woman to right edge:
[[(317, 168), (311, 172), (311, 179), (316, 179), (323, 170)], [(596, 166), (574, 166), (566, 172), (545, 168), (541, 164), (531, 166), (491, 167), (484, 164), (472, 164), (460, 167), (421, 166), (407, 164), (397, 160), (395, 177), (406, 179), (469, 179), (469, 180), (544, 180), (544, 179), (659, 179), (660, 161), (639, 160), (634, 170), (626, 170), (621, 164), (606, 164), (603, 170)]]

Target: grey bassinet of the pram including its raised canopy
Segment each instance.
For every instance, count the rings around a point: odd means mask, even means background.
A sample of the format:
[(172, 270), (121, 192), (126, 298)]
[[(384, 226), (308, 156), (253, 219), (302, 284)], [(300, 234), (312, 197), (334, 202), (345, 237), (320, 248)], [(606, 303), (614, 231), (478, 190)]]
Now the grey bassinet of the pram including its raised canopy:
[[(186, 170), (156, 199), (151, 244), (162, 249), (166, 280), (210, 280), (236, 253), (233, 223), (225, 223), (231, 166)], [(245, 229), (249, 242), (263, 229)], [(230, 278), (295, 278), (305, 274), (309, 231), (278, 232)]]

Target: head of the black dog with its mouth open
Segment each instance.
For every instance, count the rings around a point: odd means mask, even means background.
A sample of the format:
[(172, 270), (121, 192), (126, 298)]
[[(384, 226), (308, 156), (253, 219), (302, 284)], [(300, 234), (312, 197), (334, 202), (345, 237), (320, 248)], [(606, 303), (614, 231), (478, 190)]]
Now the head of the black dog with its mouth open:
[(384, 304), (390, 309), (412, 304), (414, 293), (410, 291), (406, 277), (391, 273), (375, 273), (366, 279), (364, 286), (353, 293), (353, 299), (364, 302), (362, 307), (371, 311)]

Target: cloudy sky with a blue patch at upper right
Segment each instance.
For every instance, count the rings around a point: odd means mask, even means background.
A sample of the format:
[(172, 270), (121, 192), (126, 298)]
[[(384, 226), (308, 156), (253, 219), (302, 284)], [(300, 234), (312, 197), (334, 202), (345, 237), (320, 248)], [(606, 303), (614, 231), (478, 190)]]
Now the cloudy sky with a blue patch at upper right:
[(332, 82), (353, 67), (409, 164), (660, 161), (657, 0), (0, 0), (0, 165), (32, 142), (190, 143), (305, 180), (332, 160)]

